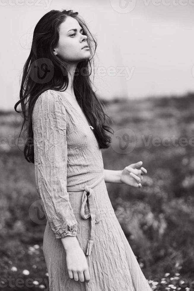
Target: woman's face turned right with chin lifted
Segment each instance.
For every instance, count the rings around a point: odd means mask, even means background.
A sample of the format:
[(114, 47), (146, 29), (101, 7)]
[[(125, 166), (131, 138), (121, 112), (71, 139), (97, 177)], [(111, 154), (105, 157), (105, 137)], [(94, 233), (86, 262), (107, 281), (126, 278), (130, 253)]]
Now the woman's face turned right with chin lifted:
[(69, 63), (87, 60), (90, 58), (90, 50), (84, 48), (88, 45), (86, 40), (87, 36), (83, 35), (78, 21), (68, 16), (59, 27), (59, 41), (58, 46), (54, 48), (54, 54)]

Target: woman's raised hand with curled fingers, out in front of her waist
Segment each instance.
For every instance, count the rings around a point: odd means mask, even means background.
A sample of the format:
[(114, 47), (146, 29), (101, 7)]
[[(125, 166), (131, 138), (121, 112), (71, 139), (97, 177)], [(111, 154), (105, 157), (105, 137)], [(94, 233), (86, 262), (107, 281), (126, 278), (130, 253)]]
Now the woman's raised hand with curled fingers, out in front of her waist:
[[(144, 167), (141, 167), (142, 164), (143, 162), (139, 161), (125, 167), (124, 170), (121, 171), (120, 181), (127, 185), (141, 188), (142, 185), (140, 182), (143, 179), (143, 175), (147, 173), (147, 170)], [(136, 169), (138, 167), (141, 167), (141, 169)]]

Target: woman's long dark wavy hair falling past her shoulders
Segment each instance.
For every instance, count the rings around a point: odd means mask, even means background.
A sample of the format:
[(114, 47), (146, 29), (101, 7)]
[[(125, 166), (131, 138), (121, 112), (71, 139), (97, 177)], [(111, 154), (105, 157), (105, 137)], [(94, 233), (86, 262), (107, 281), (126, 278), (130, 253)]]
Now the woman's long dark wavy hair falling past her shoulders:
[[(111, 118), (104, 112), (104, 103), (93, 91), (90, 80), (92, 73), (91, 60), (93, 60), (97, 47), (96, 40), (90, 33), (85, 21), (78, 16), (78, 12), (51, 10), (35, 26), (31, 51), (23, 68), (20, 100), (14, 106), (15, 111), (22, 114), (21, 132), (26, 125), (24, 132), (27, 132), (27, 139), (24, 145), (24, 156), (28, 162), (34, 163), (32, 112), (36, 100), (44, 91), (49, 89), (65, 91), (69, 85), (68, 64), (53, 53), (53, 48), (57, 46), (59, 40), (59, 26), (68, 16), (75, 18), (82, 27), (83, 34), (87, 35), (90, 56), (92, 56), (91, 59), (81, 61), (77, 65), (73, 82), (76, 100), (89, 124), (94, 127), (93, 131), (99, 148), (108, 148), (111, 137), (106, 132), (114, 133), (113, 129), (106, 125), (107, 118), (110, 120)], [(40, 70), (46, 73), (43, 77), (40, 76)], [(17, 106), (20, 103), (22, 110), (17, 111)]]

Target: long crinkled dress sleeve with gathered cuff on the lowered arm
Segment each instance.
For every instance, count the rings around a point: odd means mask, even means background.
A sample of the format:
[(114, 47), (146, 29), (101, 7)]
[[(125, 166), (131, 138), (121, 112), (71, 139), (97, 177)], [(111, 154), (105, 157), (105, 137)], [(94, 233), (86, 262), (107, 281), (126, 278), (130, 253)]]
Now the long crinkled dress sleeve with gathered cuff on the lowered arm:
[(47, 90), (34, 105), (36, 190), (56, 238), (77, 235), (77, 221), (67, 192), (66, 108), (56, 92)]

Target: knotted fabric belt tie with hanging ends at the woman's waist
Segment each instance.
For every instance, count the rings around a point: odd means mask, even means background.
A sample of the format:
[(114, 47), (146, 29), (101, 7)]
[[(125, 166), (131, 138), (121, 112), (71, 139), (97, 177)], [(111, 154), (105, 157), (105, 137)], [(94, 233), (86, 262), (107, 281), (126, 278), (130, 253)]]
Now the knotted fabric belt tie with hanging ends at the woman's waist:
[[(90, 186), (86, 185), (84, 188), (79, 187), (67, 187), (67, 191), (69, 192), (79, 192), (84, 191), (82, 194), (82, 202), (81, 202), (81, 211), (80, 215), (83, 219), (90, 219), (90, 237), (88, 239), (88, 248), (86, 255), (89, 256), (92, 250), (92, 246), (94, 243), (95, 238), (95, 224), (102, 220), (101, 216), (99, 215), (99, 208), (96, 203), (95, 194), (93, 191), (93, 187), (98, 185), (103, 179), (105, 175), (101, 175), (93, 184)], [(89, 195), (88, 195), (89, 194)], [(86, 203), (87, 202), (87, 203)], [(88, 205), (87, 205), (88, 204)]]

